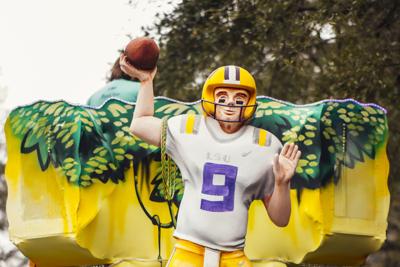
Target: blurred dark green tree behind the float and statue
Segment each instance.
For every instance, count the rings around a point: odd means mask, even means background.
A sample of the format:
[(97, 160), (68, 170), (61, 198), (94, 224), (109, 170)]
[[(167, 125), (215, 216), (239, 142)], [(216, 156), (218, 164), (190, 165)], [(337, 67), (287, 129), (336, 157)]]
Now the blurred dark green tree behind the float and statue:
[(388, 109), (388, 238), (368, 262), (398, 264), (400, 1), (183, 0), (158, 17), (144, 29), (161, 47), (158, 95), (197, 100), (213, 69), (235, 64), (254, 74), (260, 95), (298, 104), (355, 98)]

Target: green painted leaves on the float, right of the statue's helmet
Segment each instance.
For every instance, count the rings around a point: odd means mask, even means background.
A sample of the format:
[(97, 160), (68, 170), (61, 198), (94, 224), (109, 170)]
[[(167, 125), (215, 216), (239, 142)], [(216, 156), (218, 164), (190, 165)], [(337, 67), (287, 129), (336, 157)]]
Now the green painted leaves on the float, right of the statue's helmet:
[(375, 158), (387, 139), (383, 108), (354, 100), (324, 100), (309, 105), (259, 97), (251, 124), (295, 142), (302, 152), (292, 187), (319, 188), (340, 178), (345, 166), (354, 168), (365, 157)]

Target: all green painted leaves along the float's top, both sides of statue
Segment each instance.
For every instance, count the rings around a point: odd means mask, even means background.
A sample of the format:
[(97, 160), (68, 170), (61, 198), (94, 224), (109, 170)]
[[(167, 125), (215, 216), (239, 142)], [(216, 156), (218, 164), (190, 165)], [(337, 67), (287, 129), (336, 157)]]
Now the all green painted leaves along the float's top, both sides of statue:
[[(374, 159), (387, 138), (385, 111), (373, 104), (325, 100), (299, 106), (268, 97), (257, 100), (250, 124), (268, 130), (282, 143), (296, 142), (302, 151), (293, 188), (319, 188), (332, 177), (337, 181), (343, 166), (354, 168), (366, 157)], [(36, 153), (42, 170), (52, 164), (71, 183), (87, 187), (95, 179), (119, 183), (131, 164), (150, 158), (160, 161), (159, 148), (129, 131), (134, 108), (117, 99), (99, 108), (39, 101), (13, 110), (9, 120), (13, 134), (21, 140), (21, 153)], [(155, 100), (158, 118), (185, 113), (201, 114), (200, 102)], [(154, 201), (163, 197), (160, 173), (152, 181)], [(183, 194), (178, 179), (176, 202)]]

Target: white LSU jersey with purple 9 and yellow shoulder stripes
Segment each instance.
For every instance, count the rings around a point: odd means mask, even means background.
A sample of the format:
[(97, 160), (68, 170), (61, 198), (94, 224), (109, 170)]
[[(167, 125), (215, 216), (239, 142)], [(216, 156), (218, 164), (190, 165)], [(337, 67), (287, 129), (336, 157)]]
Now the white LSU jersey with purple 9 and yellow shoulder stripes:
[(227, 134), (208, 116), (170, 118), (167, 153), (185, 185), (174, 236), (222, 251), (242, 249), (249, 206), (272, 194), (273, 157), (281, 148), (276, 136), (253, 126)]

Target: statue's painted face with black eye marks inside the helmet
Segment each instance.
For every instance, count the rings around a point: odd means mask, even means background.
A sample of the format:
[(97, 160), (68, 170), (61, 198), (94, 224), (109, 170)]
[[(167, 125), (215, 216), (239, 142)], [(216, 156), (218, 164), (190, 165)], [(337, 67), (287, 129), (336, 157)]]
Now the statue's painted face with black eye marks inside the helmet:
[(249, 93), (244, 89), (216, 88), (214, 91), (216, 105), (215, 118), (225, 122), (238, 122), (243, 116), (242, 106), (249, 102)]

